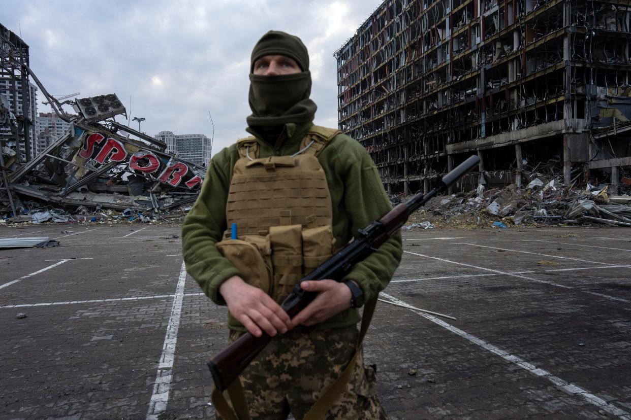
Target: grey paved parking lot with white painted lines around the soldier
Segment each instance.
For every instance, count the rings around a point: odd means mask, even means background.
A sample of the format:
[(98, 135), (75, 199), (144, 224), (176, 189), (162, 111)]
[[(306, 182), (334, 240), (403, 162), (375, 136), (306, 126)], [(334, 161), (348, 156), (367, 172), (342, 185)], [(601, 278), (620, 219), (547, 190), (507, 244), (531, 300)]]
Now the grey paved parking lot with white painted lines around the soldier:
[[(631, 419), (629, 232), (405, 232), (381, 297), (403, 307), (380, 302), (365, 342), (386, 411)], [(0, 228), (61, 242), (0, 251), (0, 418), (212, 417), (205, 362), (225, 345), (226, 311), (186, 276), (179, 235)]]

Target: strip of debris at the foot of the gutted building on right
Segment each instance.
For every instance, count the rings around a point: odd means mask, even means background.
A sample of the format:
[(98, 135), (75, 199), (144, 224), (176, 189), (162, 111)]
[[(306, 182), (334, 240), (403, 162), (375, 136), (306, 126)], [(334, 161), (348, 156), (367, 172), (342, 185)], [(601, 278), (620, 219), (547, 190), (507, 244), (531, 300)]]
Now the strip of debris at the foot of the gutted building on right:
[[(558, 179), (534, 178), (525, 188), (514, 184), (432, 198), (408, 220), (407, 229), (455, 227), (612, 225), (631, 227), (631, 184), (622, 195), (608, 195), (604, 185), (565, 186)], [(397, 200), (393, 200), (397, 201)]]

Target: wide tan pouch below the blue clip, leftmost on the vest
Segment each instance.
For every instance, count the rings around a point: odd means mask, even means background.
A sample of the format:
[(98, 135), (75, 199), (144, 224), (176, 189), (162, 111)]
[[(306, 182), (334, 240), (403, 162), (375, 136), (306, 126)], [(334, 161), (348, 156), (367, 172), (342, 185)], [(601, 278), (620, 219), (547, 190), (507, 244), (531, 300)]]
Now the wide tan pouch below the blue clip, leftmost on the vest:
[(268, 236), (247, 235), (215, 244), (221, 255), (241, 272), (245, 283), (265, 293), (271, 290), (272, 266)]

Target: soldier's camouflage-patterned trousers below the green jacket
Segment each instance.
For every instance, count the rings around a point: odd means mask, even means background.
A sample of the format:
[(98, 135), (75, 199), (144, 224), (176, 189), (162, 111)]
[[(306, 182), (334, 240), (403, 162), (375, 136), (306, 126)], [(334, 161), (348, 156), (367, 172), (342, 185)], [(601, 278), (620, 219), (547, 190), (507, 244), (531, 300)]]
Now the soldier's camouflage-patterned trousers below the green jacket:
[[(232, 343), (242, 332), (231, 331)], [(252, 420), (301, 420), (355, 354), (357, 327), (323, 331), (297, 328), (274, 338), (241, 375)], [(221, 418), (217, 415), (217, 418)], [(360, 352), (345, 392), (326, 419), (387, 419), (377, 399), (375, 366)]]

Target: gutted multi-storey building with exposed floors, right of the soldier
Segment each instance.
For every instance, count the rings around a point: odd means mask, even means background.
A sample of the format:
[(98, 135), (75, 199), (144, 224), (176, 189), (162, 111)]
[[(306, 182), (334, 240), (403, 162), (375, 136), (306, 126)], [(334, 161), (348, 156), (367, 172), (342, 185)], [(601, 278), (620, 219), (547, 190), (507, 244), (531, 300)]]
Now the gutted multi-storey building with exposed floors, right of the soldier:
[(631, 174), (631, 6), (623, 0), (386, 0), (334, 56), (339, 128), (391, 193)]

